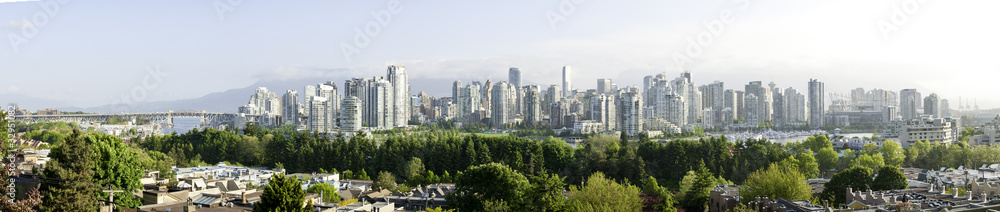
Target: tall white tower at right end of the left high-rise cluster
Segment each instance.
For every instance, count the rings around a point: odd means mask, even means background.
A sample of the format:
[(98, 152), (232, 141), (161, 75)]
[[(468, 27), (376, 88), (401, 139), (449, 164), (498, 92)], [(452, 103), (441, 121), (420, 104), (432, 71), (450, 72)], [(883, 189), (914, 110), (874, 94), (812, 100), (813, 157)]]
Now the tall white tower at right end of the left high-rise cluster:
[(406, 66), (391, 65), (388, 69), (389, 82), (392, 83), (392, 126), (405, 127), (410, 120), (410, 81), (406, 75)]

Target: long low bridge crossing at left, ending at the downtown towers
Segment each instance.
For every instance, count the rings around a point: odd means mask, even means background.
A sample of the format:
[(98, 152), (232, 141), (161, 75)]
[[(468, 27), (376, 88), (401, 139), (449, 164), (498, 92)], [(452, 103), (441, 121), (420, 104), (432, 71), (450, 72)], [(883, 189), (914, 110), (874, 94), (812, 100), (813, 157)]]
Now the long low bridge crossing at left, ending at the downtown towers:
[(153, 112), (153, 113), (118, 113), (118, 114), (62, 114), (62, 115), (15, 115), (14, 120), (24, 123), (37, 122), (108, 122), (113, 117), (125, 118), (127, 120), (144, 119), (150, 120), (153, 124), (161, 124), (166, 127), (174, 126), (175, 117), (200, 118), (199, 126), (222, 128), (223, 126), (241, 127), (244, 123), (260, 123), (260, 121), (272, 121), (273, 118), (265, 115), (247, 115), (238, 113), (213, 113), (213, 112), (193, 112), (193, 111), (173, 111)]

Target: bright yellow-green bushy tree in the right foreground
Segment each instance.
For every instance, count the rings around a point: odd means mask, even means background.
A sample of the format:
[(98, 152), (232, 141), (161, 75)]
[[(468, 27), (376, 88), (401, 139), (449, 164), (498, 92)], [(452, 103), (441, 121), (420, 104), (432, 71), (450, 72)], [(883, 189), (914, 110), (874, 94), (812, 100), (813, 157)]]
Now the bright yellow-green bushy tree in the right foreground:
[(790, 200), (810, 199), (812, 188), (806, 183), (806, 176), (800, 172), (800, 168), (797, 166), (786, 160), (772, 163), (767, 169), (751, 173), (743, 182), (743, 186), (740, 187), (743, 203), (756, 197)]

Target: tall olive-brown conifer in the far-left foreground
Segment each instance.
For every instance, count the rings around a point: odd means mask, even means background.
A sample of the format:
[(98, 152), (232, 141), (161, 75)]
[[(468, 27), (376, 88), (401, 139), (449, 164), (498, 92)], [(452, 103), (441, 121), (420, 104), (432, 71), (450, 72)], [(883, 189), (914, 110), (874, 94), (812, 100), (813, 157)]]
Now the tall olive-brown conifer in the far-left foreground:
[(97, 211), (99, 186), (94, 183), (94, 149), (80, 130), (52, 149), (42, 182), (42, 211)]

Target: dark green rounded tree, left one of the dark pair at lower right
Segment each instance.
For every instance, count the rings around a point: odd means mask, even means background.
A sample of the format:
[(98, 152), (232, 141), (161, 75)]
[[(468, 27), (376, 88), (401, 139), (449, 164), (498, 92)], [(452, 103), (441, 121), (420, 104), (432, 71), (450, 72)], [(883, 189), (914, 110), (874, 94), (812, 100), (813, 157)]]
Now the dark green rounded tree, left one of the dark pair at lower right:
[(845, 204), (844, 194), (850, 187), (857, 190), (871, 188), (872, 169), (864, 166), (854, 166), (838, 172), (823, 185), (823, 198), (833, 205)]

